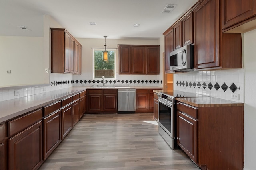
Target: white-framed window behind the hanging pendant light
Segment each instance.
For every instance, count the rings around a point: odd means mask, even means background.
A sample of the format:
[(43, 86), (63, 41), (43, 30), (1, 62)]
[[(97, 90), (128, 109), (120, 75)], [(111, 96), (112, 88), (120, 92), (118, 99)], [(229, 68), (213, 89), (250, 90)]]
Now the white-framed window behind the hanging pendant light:
[(116, 78), (116, 49), (107, 49), (108, 61), (103, 60), (104, 49), (93, 49), (93, 78), (101, 79), (102, 76), (108, 79)]

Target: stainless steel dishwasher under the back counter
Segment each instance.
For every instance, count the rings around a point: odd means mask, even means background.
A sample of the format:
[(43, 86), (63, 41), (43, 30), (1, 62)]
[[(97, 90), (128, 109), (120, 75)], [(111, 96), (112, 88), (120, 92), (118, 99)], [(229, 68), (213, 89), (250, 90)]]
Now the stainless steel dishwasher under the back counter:
[(120, 88), (118, 89), (118, 113), (135, 112), (136, 89)]

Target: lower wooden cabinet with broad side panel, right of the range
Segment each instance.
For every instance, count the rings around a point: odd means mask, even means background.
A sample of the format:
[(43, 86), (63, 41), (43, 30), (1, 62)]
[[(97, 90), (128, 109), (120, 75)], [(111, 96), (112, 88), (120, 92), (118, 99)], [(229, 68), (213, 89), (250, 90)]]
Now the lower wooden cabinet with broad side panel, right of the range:
[(243, 169), (244, 106), (176, 108), (177, 143), (202, 170)]

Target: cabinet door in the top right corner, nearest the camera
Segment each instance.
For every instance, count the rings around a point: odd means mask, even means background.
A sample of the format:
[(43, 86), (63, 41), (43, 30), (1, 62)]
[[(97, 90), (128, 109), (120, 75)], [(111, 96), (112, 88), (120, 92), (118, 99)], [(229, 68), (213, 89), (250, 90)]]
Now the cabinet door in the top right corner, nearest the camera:
[(222, 29), (240, 23), (256, 14), (255, 0), (222, 0)]

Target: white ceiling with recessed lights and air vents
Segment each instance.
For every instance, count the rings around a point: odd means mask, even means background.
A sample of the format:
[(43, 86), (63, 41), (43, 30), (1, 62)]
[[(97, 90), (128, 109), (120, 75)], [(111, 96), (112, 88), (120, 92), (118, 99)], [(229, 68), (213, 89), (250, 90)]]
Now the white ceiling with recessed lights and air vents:
[[(43, 15), (46, 14), (76, 38), (103, 38), (106, 35), (109, 39), (155, 39), (197, 1), (0, 0), (0, 35), (43, 36)], [(177, 6), (171, 13), (162, 13), (167, 4)], [(134, 27), (135, 23), (140, 27)]]

